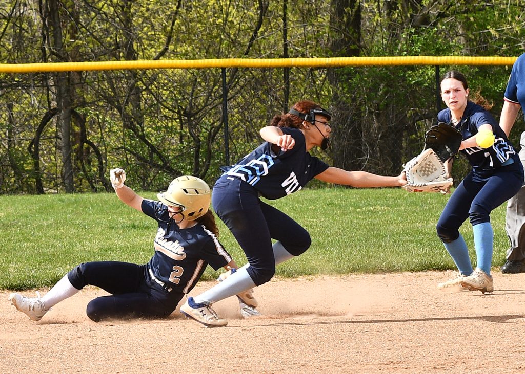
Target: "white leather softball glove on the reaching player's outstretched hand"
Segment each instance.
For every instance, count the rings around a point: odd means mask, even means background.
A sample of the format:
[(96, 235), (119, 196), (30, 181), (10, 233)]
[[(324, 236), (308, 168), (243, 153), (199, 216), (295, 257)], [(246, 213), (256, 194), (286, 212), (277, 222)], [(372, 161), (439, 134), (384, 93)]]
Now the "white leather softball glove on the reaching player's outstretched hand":
[(405, 164), (408, 192), (447, 193), (453, 185), (453, 179), (447, 174), (445, 164), (432, 149), (425, 149), (418, 156)]

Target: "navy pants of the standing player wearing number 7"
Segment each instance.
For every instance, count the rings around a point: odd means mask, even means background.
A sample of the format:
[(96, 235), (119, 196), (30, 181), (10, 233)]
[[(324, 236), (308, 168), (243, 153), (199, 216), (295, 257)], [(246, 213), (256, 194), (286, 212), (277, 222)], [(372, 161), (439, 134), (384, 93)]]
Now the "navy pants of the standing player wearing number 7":
[(467, 218), (472, 226), (490, 222), (490, 212), (516, 195), (522, 184), (520, 162), (492, 171), (471, 171), (445, 205), (437, 222), (437, 235), (450, 243), (459, 237), (459, 227)]

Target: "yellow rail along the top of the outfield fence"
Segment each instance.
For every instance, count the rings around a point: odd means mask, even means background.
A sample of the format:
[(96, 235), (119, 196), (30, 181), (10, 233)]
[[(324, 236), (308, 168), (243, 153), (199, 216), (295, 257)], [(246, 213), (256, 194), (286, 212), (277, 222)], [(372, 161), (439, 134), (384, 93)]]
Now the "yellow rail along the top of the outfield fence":
[(92, 62), (46, 62), (0, 64), (0, 73), (36, 73), (51, 71), (138, 70), (138, 69), (209, 69), (209, 68), (334, 68), (343, 66), (400, 65), (512, 65), (517, 57), (333, 57), (293, 59), (206, 59), (137, 60)]

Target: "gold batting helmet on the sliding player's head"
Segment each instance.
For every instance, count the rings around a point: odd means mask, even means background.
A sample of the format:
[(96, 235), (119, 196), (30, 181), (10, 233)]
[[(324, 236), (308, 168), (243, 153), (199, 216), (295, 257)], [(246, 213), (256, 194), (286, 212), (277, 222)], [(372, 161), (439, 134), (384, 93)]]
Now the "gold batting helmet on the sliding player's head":
[(187, 221), (194, 221), (202, 217), (208, 211), (211, 203), (209, 186), (202, 179), (193, 177), (193, 175), (175, 178), (167, 190), (158, 193), (157, 197), (165, 205), (180, 207), (181, 212), (175, 214), (181, 214)]

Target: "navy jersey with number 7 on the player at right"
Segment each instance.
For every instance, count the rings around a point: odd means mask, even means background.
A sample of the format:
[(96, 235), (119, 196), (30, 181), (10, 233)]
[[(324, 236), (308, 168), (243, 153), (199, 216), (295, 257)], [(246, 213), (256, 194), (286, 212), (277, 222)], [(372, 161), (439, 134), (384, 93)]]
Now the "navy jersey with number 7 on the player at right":
[[(446, 108), (437, 114), (438, 122), (450, 123), (450, 109)], [(461, 150), (467, 156), (474, 170), (492, 170), (501, 167), (501, 164), (512, 158), (516, 150), (510, 144), (507, 135), (499, 127), (496, 120), (484, 107), (467, 102), (467, 107), (461, 120), (455, 127), (463, 135), (463, 140), (470, 138), (478, 133), (481, 125), (489, 124), (495, 136), (494, 144), (489, 148), (470, 147)]]

